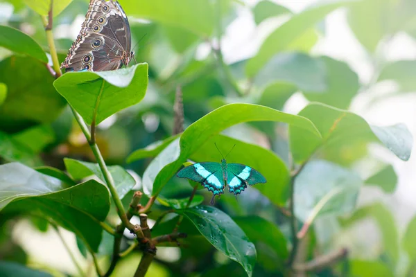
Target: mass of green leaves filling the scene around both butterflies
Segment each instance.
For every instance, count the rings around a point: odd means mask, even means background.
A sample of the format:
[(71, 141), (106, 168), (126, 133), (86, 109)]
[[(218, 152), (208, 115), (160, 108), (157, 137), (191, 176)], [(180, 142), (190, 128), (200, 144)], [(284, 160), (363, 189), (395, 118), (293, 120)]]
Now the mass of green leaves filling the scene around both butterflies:
[[(53, 1), (60, 62), (88, 2)], [(407, 161), (412, 135), (402, 124), (374, 126), (348, 111), (359, 93), (385, 80), (398, 84), (395, 93), (416, 90), (416, 61), (388, 62), (382, 51), (397, 33), (415, 38), (415, 1), (318, 1), (297, 13), (268, 0), (254, 6), (241, 0), (119, 2), (139, 64), (54, 80), (42, 20), (50, 0), (0, 0), (0, 276), (95, 276), (91, 268), (110, 265), (114, 231), (108, 229), (119, 224), (114, 196), (69, 105), (78, 120), (91, 124), (96, 116), (101, 123), (96, 143), (124, 208), (140, 190), (141, 204), (156, 199), (148, 213), (156, 222), (153, 238), (173, 230), (187, 234), (178, 244), (157, 246), (148, 276), (416, 276), (416, 219), (401, 236), (383, 204), (356, 207), (363, 186), (389, 194), (397, 185), (392, 165), (375, 159), (368, 145), (378, 143)], [(325, 17), (340, 8), (372, 61), (369, 82), (346, 62), (312, 53)], [(276, 17), (286, 21), (256, 42), (258, 51), (229, 63), (221, 44), (242, 11), (257, 30)], [(181, 116), (174, 111), (176, 89), (183, 97), (182, 134), (173, 134)], [(297, 115), (284, 112), (295, 94), (307, 100)], [(221, 150), (235, 144), (227, 161), (259, 170), (268, 182), (207, 206), (210, 193), (174, 176), (189, 160), (220, 161), (214, 143)], [(363, 175), (354, 169), (366, 159), (378, 166)], [(199, 190), (191, 199), (193, 186)], [(87, 266), (65, 272), (34, 262), (10, 239), (27, 218), (36, 232), (54, 232), (49, 226), (57, 225), (71, 231)], [(376, 253), (364, 259), (351, 242), (340, 249), (337, 238), (368, 219), (381, 234)], [(125, 232), (120, 250), (134, 241)], [(344, 248), (351, 255), (336, 256)], [(327, 255), (335, 258), (305, 269)], [(112, 276), (133, 276), (140, 259), (136, 247)]]

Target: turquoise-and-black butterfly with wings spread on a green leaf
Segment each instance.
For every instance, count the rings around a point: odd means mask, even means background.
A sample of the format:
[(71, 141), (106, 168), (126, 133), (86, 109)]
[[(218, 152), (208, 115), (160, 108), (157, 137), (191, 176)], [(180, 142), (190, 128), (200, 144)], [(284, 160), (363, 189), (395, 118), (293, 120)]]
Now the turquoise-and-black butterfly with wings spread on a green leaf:
[[(218, 149), (217, 146), (216, 148)], [(220, 152), (219, 149), (218, 152)], [(228, 186), (230, 193), (239, 195), (248, 185), (252, 186), (258, 183), (266, 183), (266, 178), (260, 172), (254, 170), (254, 168), (250, 168), (250, 166), (245, 166), (241, 163), (227, 163), (225, 158), (228, 154), (225, 157), (221, 154), (223, 157), (221, 163), (194, 163), (191, 166), (182, 168), (180, 172), (177, 172), (176, 176), (196, 181), (211, 191), (213, 194), (211, 204), (214, 204), (216, 195), (224, 193), (225, 186)]]

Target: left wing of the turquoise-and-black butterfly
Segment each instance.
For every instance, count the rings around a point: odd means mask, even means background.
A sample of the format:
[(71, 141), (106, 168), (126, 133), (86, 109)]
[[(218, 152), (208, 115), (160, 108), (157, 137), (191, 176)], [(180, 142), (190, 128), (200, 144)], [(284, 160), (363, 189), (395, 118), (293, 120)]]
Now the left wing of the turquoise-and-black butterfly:
[(194, 163), (177, 172), (177, 177), (196, 181), (214, 195), (224, 193), (223, 169), (220, 163)]

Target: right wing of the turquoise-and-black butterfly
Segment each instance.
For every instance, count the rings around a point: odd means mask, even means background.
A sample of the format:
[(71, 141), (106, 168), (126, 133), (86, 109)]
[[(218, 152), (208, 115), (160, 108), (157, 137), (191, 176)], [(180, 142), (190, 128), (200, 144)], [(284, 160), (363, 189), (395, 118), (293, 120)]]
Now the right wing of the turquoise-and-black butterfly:
[(230, 193), (239, 195), (247, 185), (266, 183), (266, 178), (260, 172), (241, 163), (227, 164), (227, 184)]

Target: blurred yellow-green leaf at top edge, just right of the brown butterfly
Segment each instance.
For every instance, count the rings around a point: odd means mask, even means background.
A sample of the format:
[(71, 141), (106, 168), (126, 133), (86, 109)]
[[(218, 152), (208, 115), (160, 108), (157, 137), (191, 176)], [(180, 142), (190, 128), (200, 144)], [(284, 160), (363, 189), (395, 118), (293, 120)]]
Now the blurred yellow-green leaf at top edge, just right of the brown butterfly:
[(136, 0), (123, 0), (120, 3), (128, 15), (185, 28), (200, 36), (207, 37), (214, 30), (214, 3), (209, 0), (153, 0), (140, 5)]

